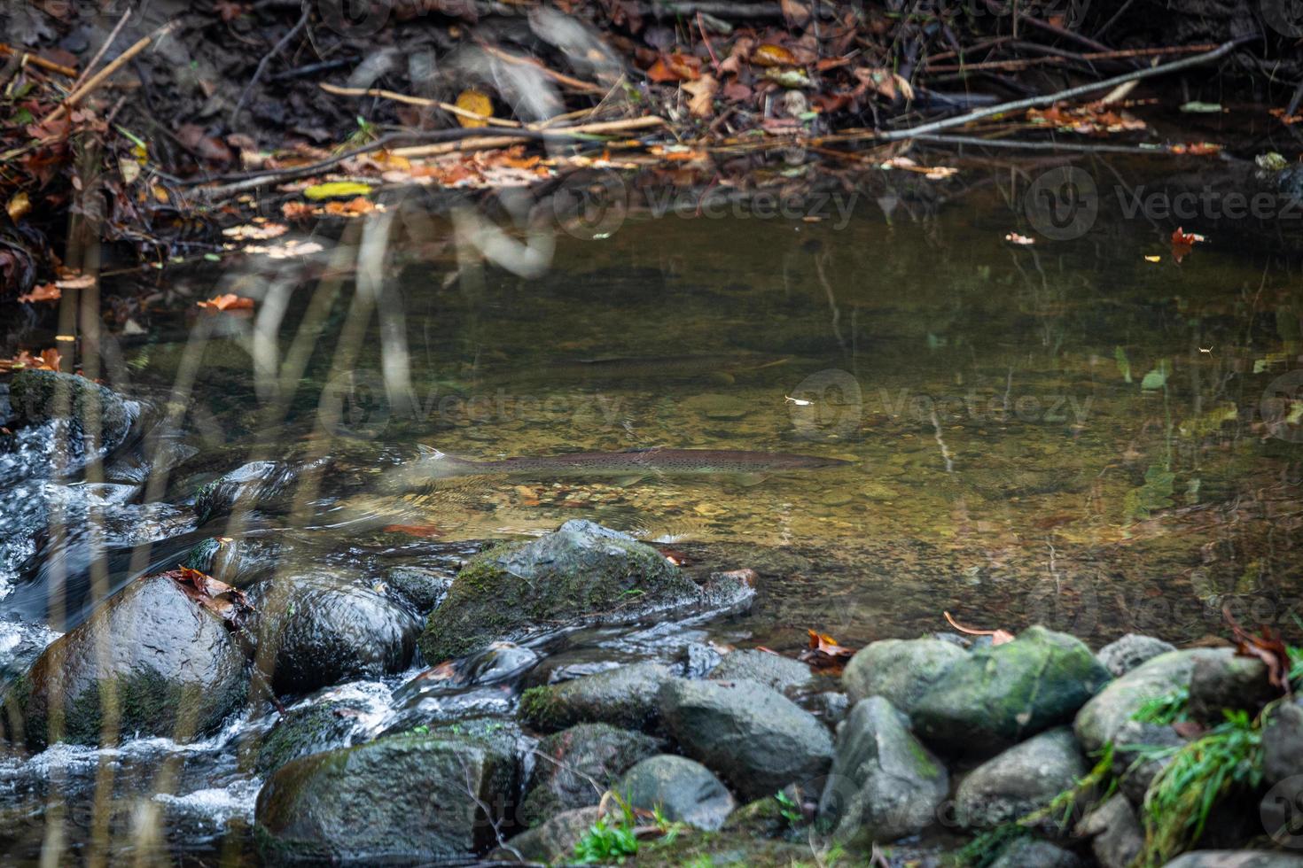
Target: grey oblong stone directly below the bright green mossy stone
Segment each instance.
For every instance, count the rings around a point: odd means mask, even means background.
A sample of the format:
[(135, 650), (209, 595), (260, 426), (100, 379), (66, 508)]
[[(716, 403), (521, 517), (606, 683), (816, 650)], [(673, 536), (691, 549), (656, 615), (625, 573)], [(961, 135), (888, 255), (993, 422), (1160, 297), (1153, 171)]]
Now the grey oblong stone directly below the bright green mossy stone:
[(1044, 808), (1087, 772), (1072, 730), (1052, 729), (969, 772), (955, 793), (955, 813), (966, 828), (992, 829)]

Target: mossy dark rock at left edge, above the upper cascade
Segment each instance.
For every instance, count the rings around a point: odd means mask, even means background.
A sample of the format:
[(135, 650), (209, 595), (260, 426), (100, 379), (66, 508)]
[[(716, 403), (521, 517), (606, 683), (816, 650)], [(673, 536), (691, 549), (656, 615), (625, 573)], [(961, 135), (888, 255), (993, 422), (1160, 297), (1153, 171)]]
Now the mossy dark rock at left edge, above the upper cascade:
[(66, 470), (121, 445), (139, 413), (136, 403), (94, 380), (56, 371), (25, 370), (13, 375), (9, 402), (17, 426), (48, 422), (66, 426)]

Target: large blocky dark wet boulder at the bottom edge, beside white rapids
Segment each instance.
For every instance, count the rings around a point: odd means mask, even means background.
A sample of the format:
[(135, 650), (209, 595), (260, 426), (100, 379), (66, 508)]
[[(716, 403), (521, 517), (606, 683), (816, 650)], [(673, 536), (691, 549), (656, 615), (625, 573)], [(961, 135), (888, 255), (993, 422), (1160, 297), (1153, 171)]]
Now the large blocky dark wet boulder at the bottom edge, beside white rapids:
[(495, 841), (515, 781), (511, 752), (485, 740), (382, 738), (280, 766), (258, 793), (255, 838), (271, 863), (465, 859)]

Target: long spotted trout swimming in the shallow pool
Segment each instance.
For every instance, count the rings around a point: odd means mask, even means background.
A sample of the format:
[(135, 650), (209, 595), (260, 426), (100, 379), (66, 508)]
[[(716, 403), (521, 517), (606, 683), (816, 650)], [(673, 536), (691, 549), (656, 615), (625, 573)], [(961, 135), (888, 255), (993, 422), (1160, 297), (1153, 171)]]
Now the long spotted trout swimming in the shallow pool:
[(395, 467), (387, 475), (391, 489), (412, 489), (457, 476), (516, 476), (556, 479), (566, 476), (614, 476), (629, 483), (644, 476), (727, 475), (741, 481), (761, 481), (770, 474), (795, 470), (842, 467), (840, 458), (797, 455), (784, 452), (735, 449), (631, 449), (628, 452), (577, 452), (564, 455), (525, 455), (502, 461), (466, 461), (430, 450), (423, 458)]

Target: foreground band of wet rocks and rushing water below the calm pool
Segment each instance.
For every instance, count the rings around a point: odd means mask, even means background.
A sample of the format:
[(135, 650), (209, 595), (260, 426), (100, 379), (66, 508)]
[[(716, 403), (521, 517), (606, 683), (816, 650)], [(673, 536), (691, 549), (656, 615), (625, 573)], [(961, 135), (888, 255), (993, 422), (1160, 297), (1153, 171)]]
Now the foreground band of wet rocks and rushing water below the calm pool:
[[(585, 521), (323, 549), (259, 518), (305, 466), (142, 505), (189, 455), (142, 466), (134, 405), (52, 372), (9, 403), (7, 610), (53, 599), (51, 550), (90, 576), (63, 635), (7, 626), (18, 859), (60, 824), (69, 851), (107, 829), (113, 855), (214, 864), (1303, 865), (1293, 658), (1031, 626), (880, 640), (831, 674), (706, 640), (745, 617), (754, 563)], [(78, 567), (154, 540), (119, 588)]]

